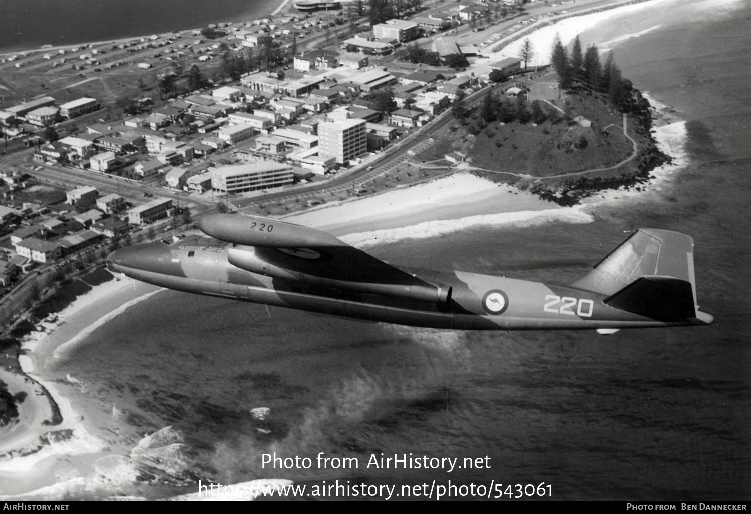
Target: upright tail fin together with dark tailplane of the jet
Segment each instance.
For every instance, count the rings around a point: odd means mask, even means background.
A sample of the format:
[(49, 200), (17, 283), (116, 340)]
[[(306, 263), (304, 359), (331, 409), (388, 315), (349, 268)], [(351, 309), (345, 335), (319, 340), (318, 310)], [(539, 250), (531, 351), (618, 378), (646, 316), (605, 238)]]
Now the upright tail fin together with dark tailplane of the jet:
[(569, 285), (608, 295), (611, 307), (653, 319), (695, 318), (694, 240), (641, 228)]

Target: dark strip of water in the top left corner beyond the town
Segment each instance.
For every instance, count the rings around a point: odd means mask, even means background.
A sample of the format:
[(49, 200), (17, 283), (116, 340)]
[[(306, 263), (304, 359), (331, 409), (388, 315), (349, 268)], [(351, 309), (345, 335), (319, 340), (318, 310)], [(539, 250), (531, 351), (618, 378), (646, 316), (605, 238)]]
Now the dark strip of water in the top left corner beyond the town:
[(3, 0), (0, 50), (194, 29), (270, 14), (282, 0)]

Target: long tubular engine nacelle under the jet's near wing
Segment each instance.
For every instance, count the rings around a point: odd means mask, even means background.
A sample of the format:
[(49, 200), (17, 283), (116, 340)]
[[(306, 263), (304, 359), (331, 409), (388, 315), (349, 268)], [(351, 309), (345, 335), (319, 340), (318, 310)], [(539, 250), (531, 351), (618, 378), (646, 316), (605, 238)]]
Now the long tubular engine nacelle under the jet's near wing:
[(256, 255), (251, 246), (236, 246), (228, 249), (228, 261), (231, 265), (242, 268), (252, 273), (266, 275), (285, 280), (299, 280), (300, 282), (331, 286), (339, 289), (349, 289), (372, 293), (375, 295), (394, 296), (409, 300), (448, 302), (451, 300), (451, 287), (425, 286), (419, 284), (385, 284), (371, 282), (354, 282), (351, 280), (338, 280), (330, 277), (318, 277), (317, 275), (291, 271), (270, 262), (264, 261)]

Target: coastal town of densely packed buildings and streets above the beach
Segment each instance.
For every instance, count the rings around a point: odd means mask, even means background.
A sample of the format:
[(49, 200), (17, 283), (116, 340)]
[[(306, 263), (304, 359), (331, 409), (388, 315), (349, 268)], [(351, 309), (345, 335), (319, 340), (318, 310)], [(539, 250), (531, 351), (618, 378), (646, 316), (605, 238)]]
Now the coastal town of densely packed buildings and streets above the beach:
[[(32, 271), (57, 277), (178, 237), (211, 210), (279, 216), (428, 180), (466, 158), (449, 147), (442, 165), (420, 166), (452, 104), (497, 85), (508, 98), (558, 95), (554, 79), (523, 74), (529, 48), (487, 56), (566, 17), (559, 5), (363, 4), (297, 2), (273, 18), (2, 56), (23, 90), (40, 75), (68, 83), (0, 110), (2, 292), (32, 304), (47, 289)], [(92, 89), (125, 75), (116, 97)]]

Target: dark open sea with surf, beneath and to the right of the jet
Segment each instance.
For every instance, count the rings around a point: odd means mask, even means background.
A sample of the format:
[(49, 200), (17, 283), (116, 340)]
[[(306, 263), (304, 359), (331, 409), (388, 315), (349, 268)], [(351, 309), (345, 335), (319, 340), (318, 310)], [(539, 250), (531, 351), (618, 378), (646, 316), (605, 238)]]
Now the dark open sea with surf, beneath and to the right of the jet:
[[(457, 225), (368, 250), (392, 262), (565, 282), (627, 231), (683, 231), (695, 239), (698, 300), (714, 325), (608, 337), (437, 331), (167, 291), (94, 331), (56, 371), (85, 383), (92, 400), (116, 404), (134, 440), (166, 425), (182, 431), (201, 476), (215, 482), (451, 479), (544, 482), (556, 499), (748, 498), (751, 8), (714, 16), (721, 4), (683, 2), (659, 20), (644, 11), (641, 22), (582, 34), (587, 44), (641, 32), (612, 47), (624, 76), (686, 119), (689, 164), (673, 179), (643, 199), (620, 195), (587, 222)], [(255, 407), (269, 407), (270, 418), (259, 424)], [(262, 469), (267, 452), (324, 452), (360, 467)], [(373, 453), (487, 455), (490, 469), (365, 469)]]

